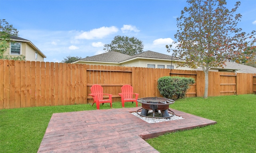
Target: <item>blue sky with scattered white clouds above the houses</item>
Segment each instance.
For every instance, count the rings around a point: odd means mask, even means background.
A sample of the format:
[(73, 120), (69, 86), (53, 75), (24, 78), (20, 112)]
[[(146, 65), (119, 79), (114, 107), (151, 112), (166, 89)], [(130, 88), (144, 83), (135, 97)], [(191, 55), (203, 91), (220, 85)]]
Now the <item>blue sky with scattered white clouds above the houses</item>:
[[(237, 0), (227, 0), (234, 8)], [(236, 13), (243, 31), (256, 30), (256, 0), (240, 0)], [(0, 0), (0, 18), (46, 55), (61, 62), (68, 55), (104, 53), (116, 35), (143, 41), (144, 51), (170, 55), (165, 45), (176, 41), (176, 18), (186, 0)]]

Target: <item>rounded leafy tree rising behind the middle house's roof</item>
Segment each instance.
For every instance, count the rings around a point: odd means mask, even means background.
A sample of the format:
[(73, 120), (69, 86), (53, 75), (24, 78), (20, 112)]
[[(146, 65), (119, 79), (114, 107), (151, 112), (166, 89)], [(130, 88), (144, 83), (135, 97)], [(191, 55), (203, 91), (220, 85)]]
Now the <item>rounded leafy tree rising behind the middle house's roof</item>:
[(127, 37), (117, 35), (110, 44), (105, 44), (104, 49), (108, 51), (116, 51), (127, 55), (136, 55), (143, 52), (143, 42), (136, 37)]

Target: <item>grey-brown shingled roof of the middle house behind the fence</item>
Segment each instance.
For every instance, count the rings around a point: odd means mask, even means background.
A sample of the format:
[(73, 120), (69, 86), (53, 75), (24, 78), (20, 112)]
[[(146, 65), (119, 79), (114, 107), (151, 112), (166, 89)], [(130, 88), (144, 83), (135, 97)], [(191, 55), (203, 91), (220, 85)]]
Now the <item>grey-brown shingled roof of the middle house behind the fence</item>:
[(110, 51), (106, 52), (103, 54), (95, 55), (92, 57), (86, 57), (83, 59), (80, 59), (79, 61), (100, 61), (100, 62), (115, 62), (115, 63), (120, 63), (129, 59), (134, 59), (134, 58), (155, 58), (155, 59), (174, 59), (174, 60), (181, 60), (175, 57), (172, 57), (170, 55), (162, 54), (162, 53), (157, 53), (154, 51), (145, 51), (133, 56), (126, 55), (123, 53), (119, 53), (116, 51)]

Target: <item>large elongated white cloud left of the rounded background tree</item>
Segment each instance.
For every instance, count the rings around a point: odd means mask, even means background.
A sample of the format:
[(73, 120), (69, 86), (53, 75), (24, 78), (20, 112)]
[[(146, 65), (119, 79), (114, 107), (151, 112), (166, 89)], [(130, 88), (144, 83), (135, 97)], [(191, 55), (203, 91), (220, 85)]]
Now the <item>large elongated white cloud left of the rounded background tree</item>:
[(96, 39), (103, 38), (112, 33), (118, 32), (118, 28), (115, 26), (112, 27), (100, 27), (98, 29), (92, 29), (90, 31), (82, 32), (80, 35), (77, 35), (75, 39)]

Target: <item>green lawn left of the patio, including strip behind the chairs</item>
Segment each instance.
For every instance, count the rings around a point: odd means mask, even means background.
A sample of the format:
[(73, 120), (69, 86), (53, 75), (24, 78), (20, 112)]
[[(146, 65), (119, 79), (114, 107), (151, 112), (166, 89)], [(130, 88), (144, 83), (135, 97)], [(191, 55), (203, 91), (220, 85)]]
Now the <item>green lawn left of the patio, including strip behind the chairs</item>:
[[(122, 108), (120, 102), (112, 106)], [(135, 106), (131, 102), (125, 104), (126, 108)], [(100, 109), (109, 108), (109, 103), (100, 105)], [(83, 110), (96, 110), (96, 104), (0, 110), (0, 153), (36, 153), (53, 113)]]

